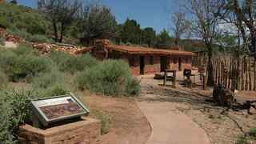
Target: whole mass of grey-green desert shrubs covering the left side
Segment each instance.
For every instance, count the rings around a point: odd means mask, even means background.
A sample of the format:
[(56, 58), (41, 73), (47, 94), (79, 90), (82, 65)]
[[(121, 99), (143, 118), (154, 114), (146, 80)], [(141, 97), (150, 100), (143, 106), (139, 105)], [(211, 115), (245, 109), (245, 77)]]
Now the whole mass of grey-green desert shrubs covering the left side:
[[(140, 90), (125, 62), (99, 62), (90, 54), (72, 56), (53, 51), (41, 55), (30, 46), (21, 45), (1, 50), (0, 67), (0, 140), (4, 143), (16, 142), (18, 126), (29, 120), (31, 99), (80, 90), (117, 97), (135, 96)], [(22, 88), (15, 86), (21, 83)], [(98, 115), (104, 122), (102, 134), (106, 134), (110, 120)]]

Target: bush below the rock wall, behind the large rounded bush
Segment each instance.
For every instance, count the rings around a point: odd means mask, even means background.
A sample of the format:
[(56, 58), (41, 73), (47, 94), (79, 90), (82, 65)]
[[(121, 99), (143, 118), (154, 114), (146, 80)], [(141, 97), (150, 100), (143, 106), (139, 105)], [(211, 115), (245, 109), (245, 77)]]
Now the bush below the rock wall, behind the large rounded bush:
[(82, 54), (75, 57), (63, 52), (53, 52), (50, 54), (50, 58), (57, 63), (59, 70), (70, 74), (86, 70), (98, 64), (98, 61), (91, 57), (90, 54)]

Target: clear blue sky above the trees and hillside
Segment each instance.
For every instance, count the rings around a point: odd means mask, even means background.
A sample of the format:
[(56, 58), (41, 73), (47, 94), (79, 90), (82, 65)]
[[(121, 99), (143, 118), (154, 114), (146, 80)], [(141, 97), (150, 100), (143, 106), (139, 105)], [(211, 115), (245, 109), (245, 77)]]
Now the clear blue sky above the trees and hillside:
[[(37, 0), (18, 0), (19, 4), (36, 6)], [(118, 23), (126, 18), (135, 19), (142, 28), (153, 27), (157, 32), (170, 29), (171, 13), (178, 10), (175, 0), (102, 0), (110, 6)]]

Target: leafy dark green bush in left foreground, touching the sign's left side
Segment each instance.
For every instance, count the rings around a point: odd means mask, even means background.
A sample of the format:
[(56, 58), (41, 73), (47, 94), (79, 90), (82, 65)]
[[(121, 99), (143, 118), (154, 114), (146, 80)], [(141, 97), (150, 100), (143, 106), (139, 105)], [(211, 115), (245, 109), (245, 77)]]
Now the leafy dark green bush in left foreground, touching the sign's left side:
[(31, 91), (2, 90), (0, 92), (0, 141), (14, 143), (18, 126), (29, 119)]

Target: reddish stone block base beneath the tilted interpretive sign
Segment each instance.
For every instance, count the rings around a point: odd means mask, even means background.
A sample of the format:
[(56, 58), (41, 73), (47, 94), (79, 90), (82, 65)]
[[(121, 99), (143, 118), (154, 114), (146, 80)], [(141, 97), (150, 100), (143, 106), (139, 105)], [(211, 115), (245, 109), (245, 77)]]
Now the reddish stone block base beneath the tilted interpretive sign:
[(20, 126), (21, 144), (92, 144), (101, 134), (101, 122), (92, 118), (47, 130), (30, 125)]

